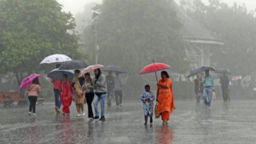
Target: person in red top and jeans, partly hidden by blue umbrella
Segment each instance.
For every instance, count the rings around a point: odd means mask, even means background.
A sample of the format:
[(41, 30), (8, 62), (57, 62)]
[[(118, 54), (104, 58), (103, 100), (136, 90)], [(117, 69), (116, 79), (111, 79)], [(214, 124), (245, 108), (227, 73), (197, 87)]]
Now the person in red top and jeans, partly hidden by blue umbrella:
[[(59, 68), (61, 64), (57, 64), (56, 68)], [(61, 95), (60, 95), (60, 89), (59, 85), (61, 84), (61, 81), (58, 81), (56, 79), (51, 78), (50, 82), (53, 83), (53, 89), (54, 89), (54, 94), (55, 94), (55, 111), (57, 113), (61, 113)]]

